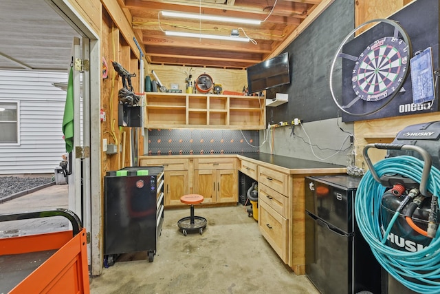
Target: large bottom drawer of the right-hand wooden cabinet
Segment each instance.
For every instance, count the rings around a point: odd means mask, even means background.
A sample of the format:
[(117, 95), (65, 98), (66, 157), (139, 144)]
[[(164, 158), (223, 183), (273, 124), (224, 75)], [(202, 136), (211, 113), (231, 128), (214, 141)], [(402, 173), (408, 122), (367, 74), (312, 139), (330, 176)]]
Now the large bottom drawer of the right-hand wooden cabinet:
[(287, 220), (266, 202), (259, 202), (259, 228), (281, 260), (287, 264)]

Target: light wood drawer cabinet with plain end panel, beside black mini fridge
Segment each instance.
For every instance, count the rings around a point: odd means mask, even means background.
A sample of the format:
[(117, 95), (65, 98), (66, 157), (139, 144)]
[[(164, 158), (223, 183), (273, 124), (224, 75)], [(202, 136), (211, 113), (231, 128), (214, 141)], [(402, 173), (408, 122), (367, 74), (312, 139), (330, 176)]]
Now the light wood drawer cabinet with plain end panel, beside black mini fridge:
[(259, 183), (259, 229), (285, 264), (305, 274), (305, 177), (345, 174), (344, 167), (288, 169), (238, 156), (239, 170)]

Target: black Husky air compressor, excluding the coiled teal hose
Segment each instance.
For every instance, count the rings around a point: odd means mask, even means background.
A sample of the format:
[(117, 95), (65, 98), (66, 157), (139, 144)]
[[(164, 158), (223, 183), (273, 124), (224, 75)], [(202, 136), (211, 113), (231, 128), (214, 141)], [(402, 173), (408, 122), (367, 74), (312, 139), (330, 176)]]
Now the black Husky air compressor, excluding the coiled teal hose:
[[(406, 155), (423, 160), (423, 152), (426, 151), (431, 161), (428, 159), (428, 162), (424, 162), (425, 167), (430, 169), (428, 165), (432, 165), (440, 169), (439, 139), (440, 121), (410, 125), (401, 130), (391, 144), (417, 146), (423, 151), (417, 152), (411, 148), (388, 149), (386, 158)], [(425, 248), (434, 238), (435, 227), (438, 225), (436, 211), (438, 204), (435, 202), (437, 197), (432, 198), (429, 191), (424, 191), (427, 195), (421, 195), (419, 183), (401, 175), (385, 174), (382, 177), (386, 179), (388, 186), (393, 185), (393, 188), (388, 189), (382, 197), (382, 223), (388, 224), (394, 212), (401, 206), (400, 216), (391, 229), (386, 244), (395, 249), (411, 252)], [(412, 201), (408, 200), (409, 203), (405, 204), (406, 198), (412, 198)], [(432, 225), (428, 226), (430, 222)]]

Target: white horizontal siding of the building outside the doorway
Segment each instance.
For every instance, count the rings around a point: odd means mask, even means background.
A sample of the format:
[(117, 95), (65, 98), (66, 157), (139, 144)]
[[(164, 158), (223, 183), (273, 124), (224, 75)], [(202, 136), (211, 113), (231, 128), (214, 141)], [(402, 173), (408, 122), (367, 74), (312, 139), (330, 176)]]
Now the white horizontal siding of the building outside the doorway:
[[(20, 145), (0, 145), (0, 174), (52, 174), (65, 154), (66, 72), (0, 70), (0, 101), (20, 101)], [(1, 131), (0, 131), (1, 136)]]

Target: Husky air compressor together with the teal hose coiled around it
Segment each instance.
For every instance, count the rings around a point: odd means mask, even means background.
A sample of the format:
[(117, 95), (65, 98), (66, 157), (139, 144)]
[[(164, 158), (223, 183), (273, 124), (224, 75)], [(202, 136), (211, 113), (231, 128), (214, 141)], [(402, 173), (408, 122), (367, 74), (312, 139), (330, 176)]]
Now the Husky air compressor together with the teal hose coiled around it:
[[(369, 171), (355, 198), (355, 218), (376, 259), (416, 293), (440, 293), (439, 140), (436, 121), (406, 127), (391, 144), (366, 145)], [(373, 165), (370, 148), (386, 149), (386, 158)]]

